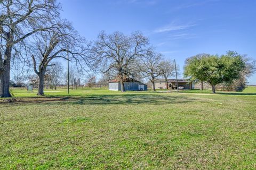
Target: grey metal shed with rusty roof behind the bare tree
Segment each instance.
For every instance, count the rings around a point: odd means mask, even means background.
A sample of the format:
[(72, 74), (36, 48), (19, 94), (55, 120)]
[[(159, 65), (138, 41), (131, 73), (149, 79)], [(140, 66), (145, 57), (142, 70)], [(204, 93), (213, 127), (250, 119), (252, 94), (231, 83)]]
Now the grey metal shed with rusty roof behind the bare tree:
[[(115, 91), (121, 90), (120, 81), (110, 80), (108, 82), (108, 89), (115, 90)], [(132, 78), (127, 78), (124, 82), (124, 89), (127, 91), (138, 91), (138, 90), (147, 90), (148, 88), (146, 84), (140, 81), (134, 80)]]

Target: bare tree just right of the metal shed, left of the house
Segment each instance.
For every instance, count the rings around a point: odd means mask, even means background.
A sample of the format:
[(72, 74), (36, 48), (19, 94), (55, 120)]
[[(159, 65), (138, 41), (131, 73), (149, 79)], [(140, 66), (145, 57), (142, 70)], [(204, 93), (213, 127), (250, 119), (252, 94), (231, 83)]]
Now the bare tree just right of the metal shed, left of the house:
[(161, 75), (161, 61), (163, 56), (161, 53), (148, 52), (143, 60), (138, 63), (140, 71), (143, 72), (152, 83), (152, 89), (155, 91), (155, 80)]

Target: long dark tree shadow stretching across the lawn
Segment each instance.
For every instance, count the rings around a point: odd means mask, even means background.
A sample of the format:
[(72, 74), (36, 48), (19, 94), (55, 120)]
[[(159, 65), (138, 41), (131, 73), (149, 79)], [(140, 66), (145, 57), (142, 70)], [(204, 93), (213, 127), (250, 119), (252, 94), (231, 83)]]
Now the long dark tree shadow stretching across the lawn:
[[(73, 96), (44, 96), (44, 97), (17, 97), (12, 104), (74, 104), (74, 105), (116, 105), (116, 104), (185, 104), (195, 101), (195, 98), (184, 96), (162, 96), (153, 94), (127, 95), (73, 95)], [(54, 102), (53, 102), (54, 101)]]

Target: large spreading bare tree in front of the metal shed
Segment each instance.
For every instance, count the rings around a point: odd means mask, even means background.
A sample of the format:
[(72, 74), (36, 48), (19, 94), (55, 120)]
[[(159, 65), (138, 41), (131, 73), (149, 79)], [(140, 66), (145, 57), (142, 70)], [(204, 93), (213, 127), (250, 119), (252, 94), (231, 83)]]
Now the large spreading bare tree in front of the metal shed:
[(117, 79), (121, 82), (121, 91), (125, 92), (124, 81), (132, 74), (131, 64), (145, 55), (148, 44), (148, 39), (141, 32), (125, 36), (118, 31), (111, 35), (102, 31), (91, 52), (102, 73), (110, 70), (117, 73)]

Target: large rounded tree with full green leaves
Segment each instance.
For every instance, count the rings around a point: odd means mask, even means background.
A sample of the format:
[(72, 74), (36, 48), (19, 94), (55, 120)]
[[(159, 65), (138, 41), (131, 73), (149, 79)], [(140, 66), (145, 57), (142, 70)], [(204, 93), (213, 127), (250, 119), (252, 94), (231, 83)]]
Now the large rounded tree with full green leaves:
[(227, 52), (226, 55), (198, 54), (187, 58), (184, 66), (184, 75), (192, 81), (207, 82), (215, 86), (223, 82), (230, 82), (239, 78), (245, 68), (243, 57), (236, 52)]

